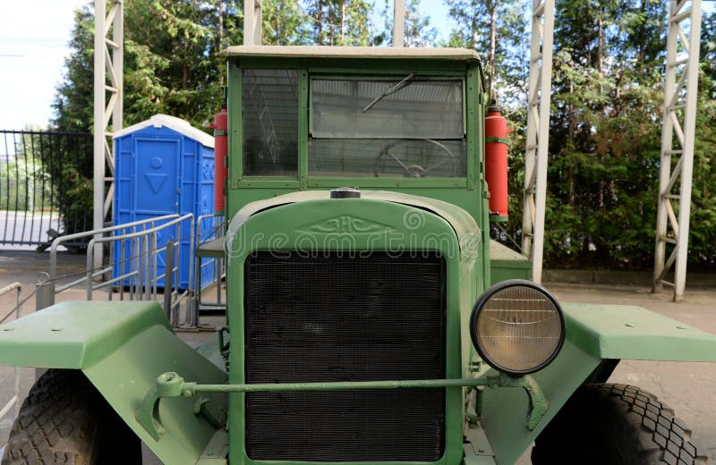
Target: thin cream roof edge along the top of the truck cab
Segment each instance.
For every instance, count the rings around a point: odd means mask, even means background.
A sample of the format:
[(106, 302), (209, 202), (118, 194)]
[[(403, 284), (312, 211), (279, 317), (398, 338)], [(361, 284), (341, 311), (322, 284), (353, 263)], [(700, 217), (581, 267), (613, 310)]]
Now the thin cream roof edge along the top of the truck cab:
[(282, 56), (286, 58), (383, 58), (479, 62), (477, 52), (467, 48), (430, 47), (327, 47), (327, 46), (236, 46), (228, 56)]

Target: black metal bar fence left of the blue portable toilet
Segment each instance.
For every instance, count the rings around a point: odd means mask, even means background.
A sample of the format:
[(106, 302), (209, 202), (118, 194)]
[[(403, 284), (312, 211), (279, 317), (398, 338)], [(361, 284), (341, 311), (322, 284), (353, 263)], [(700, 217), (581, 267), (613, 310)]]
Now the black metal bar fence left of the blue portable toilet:
[(0, 245), (91, 229), (92, 148), (90, 133), (0, 131)]

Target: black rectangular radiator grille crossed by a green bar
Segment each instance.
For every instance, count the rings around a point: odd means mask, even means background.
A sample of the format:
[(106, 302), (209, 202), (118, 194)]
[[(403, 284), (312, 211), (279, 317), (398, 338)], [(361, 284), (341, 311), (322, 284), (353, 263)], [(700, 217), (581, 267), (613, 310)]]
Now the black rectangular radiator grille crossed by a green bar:
[[(245, 268), (247, 383), (445, 377), (435, 253), (256, 252)], [(438, 461), (445, 389), (247, 393), (253, 460)]]

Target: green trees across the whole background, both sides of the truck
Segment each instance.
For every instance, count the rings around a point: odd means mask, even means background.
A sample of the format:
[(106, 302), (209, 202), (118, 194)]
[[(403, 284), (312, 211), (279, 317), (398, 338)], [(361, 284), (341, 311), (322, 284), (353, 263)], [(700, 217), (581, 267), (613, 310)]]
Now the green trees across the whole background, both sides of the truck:
[[(519, 0), (445, 0), (445, 4), (456, 29), (440, 45), (478, 51), (495, 96), (515, 129), (509, 147), (512, 219), (504, 231), (496, 226), (495, 234), (518, 242), (529, 5)], [(165, 113), (205, 127), (217, 111), (225, 83), (221, 50), (243, 41), (243, 3), (129, 0), (124, 5), (124, 123)], [(391, 40), (392, 6), (388, 0), (264, 0), (263, 42), (386, 46)], [(547, 266), (652, 267), (666, 7), (664, 0), (556, 2)], [(371, 13), (375, 10), (379, 14)], [(435, 37), (418, 0), (406, 2), (405, 45), (434, 45)], [(91, 4), (75, 13), (70, 46), (65, 80), (53, 105), (54, 125), (63, 131), (90, 131)], [(701, 55), (691, 269), (712, 267), (716, 259), (716, 12), (704, 15)], [(78, 160), (70, 166), (64, 169), (63, 179), (75, 181), (78, 188), (67, 192), (64, 202), (88, 208), (91, 163)]]

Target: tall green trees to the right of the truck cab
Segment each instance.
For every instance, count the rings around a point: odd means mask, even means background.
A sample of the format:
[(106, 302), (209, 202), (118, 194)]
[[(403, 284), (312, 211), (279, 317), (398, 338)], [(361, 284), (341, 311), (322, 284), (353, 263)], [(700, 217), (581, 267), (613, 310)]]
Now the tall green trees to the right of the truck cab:
[[(490, 2), (447, 3), (461, 25), (451, 36), (451, 45), (470, 45), (468, 40), (477, 31), (473, 47), (488, 47), (483, 31), (489, 26)], [(653, 266), (666, 8), (661, 0), (556, 4), (545, 266)], [(477, 29), (471, 29), (470, 18), (477, 19)], [(506, 20), (498, 15), (498, 30), (501, 21)], [(514, 27), (521, 30), (518, 24)], [(713, 269), (716, 264), (716, 13), (704, 17), (702, 39), (689, 241), (692, 270)], [(505, 73), (507, 82), (524, 77), (515, 70)], [(497, 76), (500, 84), (499, 71)], [(526, 94), (503, 97), (502, 105), (510, 127), (516, 129), (509, 148), (511, 220), (504, 229), (493, 226), (493, 235), (519, 242)]]

